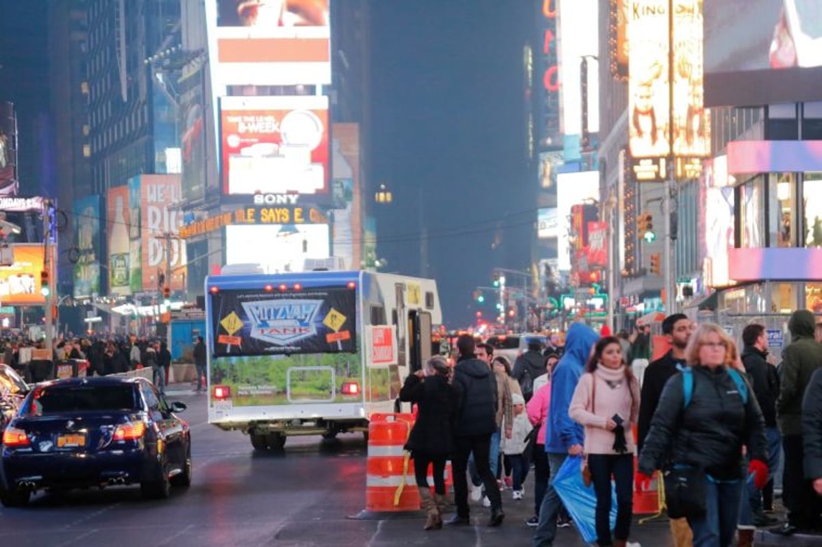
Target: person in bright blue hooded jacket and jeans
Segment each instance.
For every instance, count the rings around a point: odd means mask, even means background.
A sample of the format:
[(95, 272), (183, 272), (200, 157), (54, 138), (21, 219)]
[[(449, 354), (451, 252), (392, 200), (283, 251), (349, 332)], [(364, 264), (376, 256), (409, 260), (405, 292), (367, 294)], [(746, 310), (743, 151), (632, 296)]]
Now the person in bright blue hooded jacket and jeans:
[[(582, 453), (584, 429), (568, 416), (570, 400), (577, 382), (585, 370), (591, 348), (599, 335), (588, 325), (575, 323), (566, 334), (565, 354), (556, 364), (551, 377), (551, 402), (548, 407), (545, 452), (551, 476), (556, 476), (565, 458)], [(562, 501), (552, 485), (548, 485), (539, 508), (539, 523), (533, 535), (534, 547), (550, 547), (556, 537), (556, 516)]]

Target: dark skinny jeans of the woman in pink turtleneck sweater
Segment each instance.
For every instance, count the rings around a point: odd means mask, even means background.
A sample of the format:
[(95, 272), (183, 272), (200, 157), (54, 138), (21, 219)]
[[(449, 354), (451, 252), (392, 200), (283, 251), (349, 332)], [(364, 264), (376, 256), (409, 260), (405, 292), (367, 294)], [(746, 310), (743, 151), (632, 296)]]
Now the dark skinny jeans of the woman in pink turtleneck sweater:
[(611, 476), (617, 489), (617, 524), (613, 536), (627, 540), (634, 508), (634, 454), (589, 454), (588, 468), (597, 494), (597, 543), (611, 545)]

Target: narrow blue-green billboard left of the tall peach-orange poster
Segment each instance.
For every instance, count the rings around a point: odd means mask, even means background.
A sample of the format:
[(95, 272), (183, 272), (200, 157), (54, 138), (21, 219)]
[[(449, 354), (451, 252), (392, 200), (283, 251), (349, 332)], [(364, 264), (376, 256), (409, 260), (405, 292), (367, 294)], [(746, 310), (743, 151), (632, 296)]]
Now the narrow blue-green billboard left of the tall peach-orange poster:
[(74, 297), (100, 293), (100, 198), (89, 195), (74, 202)]

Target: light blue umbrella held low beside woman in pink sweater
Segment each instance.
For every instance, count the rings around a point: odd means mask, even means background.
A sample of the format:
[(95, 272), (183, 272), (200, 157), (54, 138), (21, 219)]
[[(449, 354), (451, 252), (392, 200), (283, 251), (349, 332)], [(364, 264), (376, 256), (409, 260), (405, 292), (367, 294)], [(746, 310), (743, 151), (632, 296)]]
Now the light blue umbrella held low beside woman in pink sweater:
[[(552, 485), (565, 504), (576, 529), (586, 543), (597, 540), (596, 509), (597, 496), (593, 485), (586, 487), (582, 482), (582, 457), (569, 456), (553, 477)], [(617, 523), (617, 493), (611, 488), (611, 529)]]

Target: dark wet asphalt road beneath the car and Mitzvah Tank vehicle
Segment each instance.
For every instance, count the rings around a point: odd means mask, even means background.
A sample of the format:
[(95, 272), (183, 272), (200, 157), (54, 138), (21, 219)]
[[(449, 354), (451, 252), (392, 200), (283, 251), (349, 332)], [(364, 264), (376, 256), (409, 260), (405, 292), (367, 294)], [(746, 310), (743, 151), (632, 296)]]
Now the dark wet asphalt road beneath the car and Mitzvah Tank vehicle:
[[(315, 545), (529, 545), (533, 487), (514, 502), (503, 493), (506, 522), (487, 528), (487, 509), (472, 508), (476, 526), (423, 532), (417, 518), (356, 520), (365, 507), (366, 444), (361, 434), (289, 438), (283, 453), (257, 453), (239, 432), (205, 422), (205, 397), (171, 386), (170, 401), (192, 427), (194, 475), (187, 490), (144, 501), (139, 487), (37, 494), (27, 508), (0, 508), (0, 545), (15, 547)], [(635, 528), (643, 545), (668, 545), (667, 525)], [(556, 545), (584, 545), (564, 529)]]

